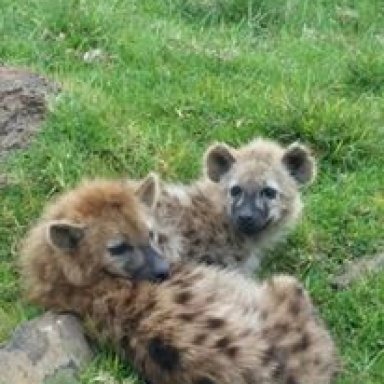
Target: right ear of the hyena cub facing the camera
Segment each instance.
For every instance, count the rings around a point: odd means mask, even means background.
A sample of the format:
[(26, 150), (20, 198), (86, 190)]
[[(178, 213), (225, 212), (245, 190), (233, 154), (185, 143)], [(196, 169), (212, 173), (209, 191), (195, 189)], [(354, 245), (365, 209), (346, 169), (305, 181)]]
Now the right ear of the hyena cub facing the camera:
[(293, 143), (286, 149), (283, 164), (300, 185), (311, 183), (316, 176), (315, 159), (309, 149), (299, 143)]

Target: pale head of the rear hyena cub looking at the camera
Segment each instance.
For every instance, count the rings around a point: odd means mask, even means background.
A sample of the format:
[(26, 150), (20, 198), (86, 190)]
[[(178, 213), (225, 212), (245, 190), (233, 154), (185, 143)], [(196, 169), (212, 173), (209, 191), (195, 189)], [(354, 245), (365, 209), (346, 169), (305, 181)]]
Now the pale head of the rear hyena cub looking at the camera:
[(306, 147), (264, 139), (239, 149), (215, 144), (205, 155), (206, 175), (222, 189), (232, 224), (256, 238), (293, 223), (301, 211), (299, 187), (313, 180), (315, 168)]

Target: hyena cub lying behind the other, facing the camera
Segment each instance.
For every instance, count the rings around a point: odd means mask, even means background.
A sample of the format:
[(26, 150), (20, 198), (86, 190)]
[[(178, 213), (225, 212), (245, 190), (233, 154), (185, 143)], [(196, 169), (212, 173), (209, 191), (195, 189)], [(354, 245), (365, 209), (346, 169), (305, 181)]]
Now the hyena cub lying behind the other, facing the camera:
[(256, 139), (239, 149), (213, 145), (202, 180), (162, 184), (154, 211), (162, 228), (159, 243), (171, 261), (232, 266), (251, 274), (262, 251), (297, 222), (299, 188), (313, 180), (315, 169), (308, 149), (296, 143), (283, 148)]

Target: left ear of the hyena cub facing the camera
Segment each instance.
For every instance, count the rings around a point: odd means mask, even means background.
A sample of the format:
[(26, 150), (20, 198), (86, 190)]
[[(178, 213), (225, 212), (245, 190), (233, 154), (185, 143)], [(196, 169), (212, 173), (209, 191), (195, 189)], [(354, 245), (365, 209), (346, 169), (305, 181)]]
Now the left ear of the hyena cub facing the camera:
[(205, 153), (205, 173), (209, 179), (218, 183), (236, 161), (233, 149), (226, 144), (211, 145)]

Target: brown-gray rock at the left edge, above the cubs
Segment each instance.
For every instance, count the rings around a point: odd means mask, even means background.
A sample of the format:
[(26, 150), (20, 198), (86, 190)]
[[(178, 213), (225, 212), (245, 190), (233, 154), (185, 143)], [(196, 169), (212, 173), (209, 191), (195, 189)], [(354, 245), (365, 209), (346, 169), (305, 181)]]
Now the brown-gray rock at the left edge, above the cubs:
[(26, 146), (47, 111), (47, 96), (58, 90), (39, 75), (0, 67), (0, 158)]

